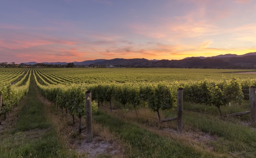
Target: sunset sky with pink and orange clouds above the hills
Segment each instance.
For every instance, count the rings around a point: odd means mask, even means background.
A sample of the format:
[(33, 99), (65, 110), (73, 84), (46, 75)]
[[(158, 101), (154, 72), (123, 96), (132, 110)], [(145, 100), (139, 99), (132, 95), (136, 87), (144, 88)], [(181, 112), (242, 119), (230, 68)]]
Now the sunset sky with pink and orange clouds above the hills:
[(256, 0), (0, 0), (0, 62), (256, 52)]

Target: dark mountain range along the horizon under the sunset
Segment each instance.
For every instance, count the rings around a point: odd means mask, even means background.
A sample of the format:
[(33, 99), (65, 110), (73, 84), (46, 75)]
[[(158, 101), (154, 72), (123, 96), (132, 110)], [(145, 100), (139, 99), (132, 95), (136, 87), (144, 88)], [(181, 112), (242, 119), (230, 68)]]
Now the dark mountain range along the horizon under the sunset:
[[(144, 58), (111, 60), (97, 59), (83, 62), (73, 62), (75, 65), (103, 65), (121, 67), (169, 67), (169, 68), (256, 68), (256, 52), (243, 55), (225, 54), (212, 57), (189, 57), (182, 60), (148, 60)], [(36, 62), (24, 64), (35, 65)], [(44, 62), (43, 64), (61, 64), (67, 62)]]

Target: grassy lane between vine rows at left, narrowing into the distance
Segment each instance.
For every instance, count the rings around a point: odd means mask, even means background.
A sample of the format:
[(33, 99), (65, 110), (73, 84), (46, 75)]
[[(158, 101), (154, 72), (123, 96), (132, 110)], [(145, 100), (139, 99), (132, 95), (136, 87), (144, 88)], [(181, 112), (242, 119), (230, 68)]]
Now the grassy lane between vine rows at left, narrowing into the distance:
[(31, 81), (29, 92), (19, 105), (22, 106), (20, 117), (17, 122), (11, 122), (13, 128), (6, 127), (0, 133), (0, 157), (77, 157), (65, 147), (56, 127), (46, 119), (33, 77)]

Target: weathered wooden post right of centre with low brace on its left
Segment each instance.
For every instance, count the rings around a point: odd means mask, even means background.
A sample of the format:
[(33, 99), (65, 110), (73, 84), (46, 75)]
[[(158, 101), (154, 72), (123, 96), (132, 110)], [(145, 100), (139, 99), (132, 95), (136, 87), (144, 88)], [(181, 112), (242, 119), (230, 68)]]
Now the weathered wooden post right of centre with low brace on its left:
[(177, 131), (182, 133), (183, 88), (177, 91)]

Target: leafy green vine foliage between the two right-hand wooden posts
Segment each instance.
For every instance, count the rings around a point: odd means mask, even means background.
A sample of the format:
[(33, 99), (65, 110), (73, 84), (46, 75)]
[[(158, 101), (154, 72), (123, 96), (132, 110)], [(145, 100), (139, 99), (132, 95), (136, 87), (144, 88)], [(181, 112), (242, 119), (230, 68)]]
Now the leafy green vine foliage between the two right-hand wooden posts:
[(198, 81), (182, 84), (184, 100), (194, 103), (204, 103), (215, 107), (225, 106), (231, 101), (241, 104), (243, 101), (242, 86), (239, 79), (223, 79), (223, 82)]

